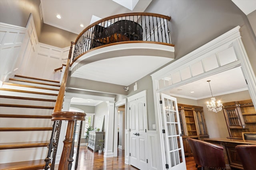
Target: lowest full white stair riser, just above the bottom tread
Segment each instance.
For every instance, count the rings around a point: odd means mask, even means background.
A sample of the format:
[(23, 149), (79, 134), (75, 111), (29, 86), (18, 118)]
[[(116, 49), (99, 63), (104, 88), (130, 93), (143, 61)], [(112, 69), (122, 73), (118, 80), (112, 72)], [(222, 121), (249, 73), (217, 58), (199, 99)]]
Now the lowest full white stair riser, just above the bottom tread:
[(47, 147), (0, 150), (0, 163), (21, 162), (46, 158)]

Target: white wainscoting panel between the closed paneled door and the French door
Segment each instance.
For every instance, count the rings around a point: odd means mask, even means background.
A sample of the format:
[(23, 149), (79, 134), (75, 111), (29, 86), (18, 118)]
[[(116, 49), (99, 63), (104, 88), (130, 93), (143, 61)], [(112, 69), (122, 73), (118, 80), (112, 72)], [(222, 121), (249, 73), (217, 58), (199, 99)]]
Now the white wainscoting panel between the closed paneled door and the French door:
[(147, 131), (148, 135), (148, 168), (149, 170), (160, 169), (160, 156), (156, 131)]

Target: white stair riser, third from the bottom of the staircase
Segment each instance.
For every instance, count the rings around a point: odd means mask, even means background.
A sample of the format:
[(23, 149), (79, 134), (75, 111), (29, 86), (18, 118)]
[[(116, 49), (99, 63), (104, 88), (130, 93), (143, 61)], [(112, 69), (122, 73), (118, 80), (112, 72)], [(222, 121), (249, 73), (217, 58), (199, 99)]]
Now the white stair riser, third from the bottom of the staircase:
[(51, 119), (1, 117), (0, 127), (52, 127)]

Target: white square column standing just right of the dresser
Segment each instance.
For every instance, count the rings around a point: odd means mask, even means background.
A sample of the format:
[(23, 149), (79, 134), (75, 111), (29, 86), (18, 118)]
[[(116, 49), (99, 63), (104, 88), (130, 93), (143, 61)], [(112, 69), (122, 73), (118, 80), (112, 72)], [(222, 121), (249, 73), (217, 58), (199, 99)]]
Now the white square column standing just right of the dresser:
[[(106, 117), (107, 129), (105, 132), (105, 152), (104, 157), (114, 156), (114, 102), (106, 102), (108, 104), (108, 113)], [(117, 144), (116, 144), (117, 145)]]

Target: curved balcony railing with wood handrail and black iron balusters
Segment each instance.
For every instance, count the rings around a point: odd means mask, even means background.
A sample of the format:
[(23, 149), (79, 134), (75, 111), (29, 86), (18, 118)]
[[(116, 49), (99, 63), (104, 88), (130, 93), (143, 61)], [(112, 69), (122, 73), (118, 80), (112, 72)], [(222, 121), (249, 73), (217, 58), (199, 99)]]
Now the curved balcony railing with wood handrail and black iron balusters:
[(110, 16), (86, 27), (76, 38), (73, 62), (89, 50), (124, 43), (153, 41), (171, 44), (171, 18), (153, 13), (128, 13)]

